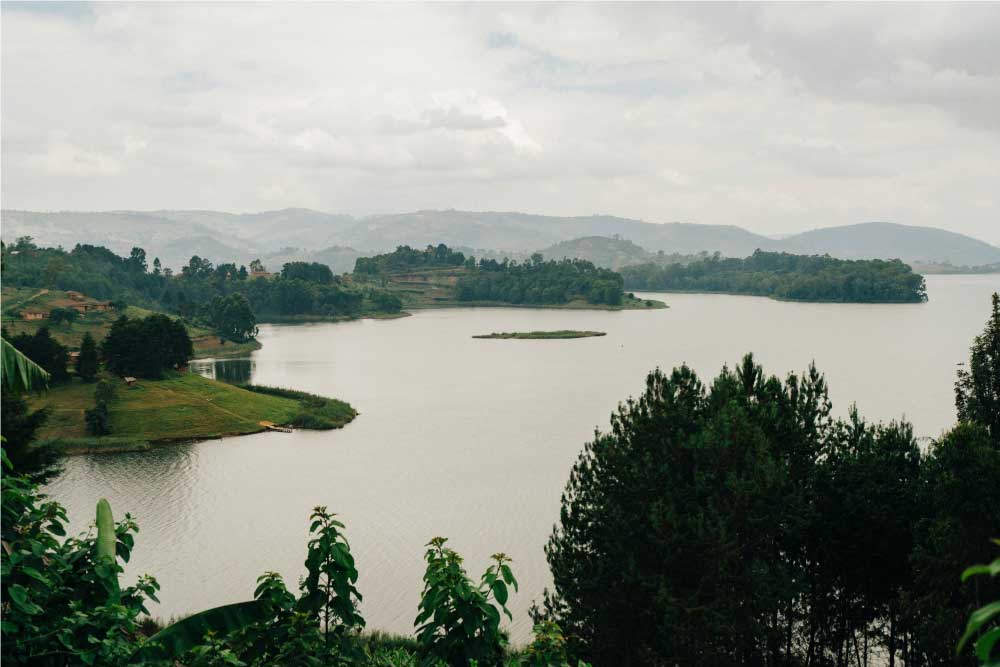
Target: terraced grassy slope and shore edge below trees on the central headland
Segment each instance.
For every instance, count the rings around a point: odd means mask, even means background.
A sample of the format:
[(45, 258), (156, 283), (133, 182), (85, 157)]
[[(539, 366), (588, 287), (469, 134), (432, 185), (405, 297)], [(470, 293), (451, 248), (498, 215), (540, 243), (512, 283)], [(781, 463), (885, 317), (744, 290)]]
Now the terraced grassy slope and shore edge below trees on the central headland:
[(580, 310), (646, 310), (650, 308), (666, 308), (662, 301), (643, 301), (628, 299), (621, 306), (588, 303), (584, 299), (570, 301), (564, 304), (511, 304), (499, 301), (459, 301), (455, 297), (455, 284), (464, 268), (422, 269), (406, 273), (391, 274), (380, 287), (392, 292), (403, 301), (403, 308), (468, 308), (473, 306), (504, 306), (514, 308), (565, 308)]

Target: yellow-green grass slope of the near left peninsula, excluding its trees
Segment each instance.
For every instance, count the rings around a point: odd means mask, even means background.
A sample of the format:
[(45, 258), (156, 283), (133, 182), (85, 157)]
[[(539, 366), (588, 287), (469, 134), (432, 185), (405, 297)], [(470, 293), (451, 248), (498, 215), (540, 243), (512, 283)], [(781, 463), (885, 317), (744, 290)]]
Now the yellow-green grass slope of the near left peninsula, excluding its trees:
[[(93, 405), (94, 385), (79, 381), (40, 395), (32, 401), (32, 407), (49, 406), (52, 414), (39, 437), (86, 436), (83, 413)], [(264, 430), (261, 421), (288, 424), (303, 412), (319, 414), (331, 426), (343, 426), (355, 415), (341, 401), (327, 399), (322, 407), (306, 406), (300, 400), (250, 392), (195, 374), (139, 380), (132, 387), (121, 384), (110, 407), (115, 438), (152, 442), (256, 433)]]

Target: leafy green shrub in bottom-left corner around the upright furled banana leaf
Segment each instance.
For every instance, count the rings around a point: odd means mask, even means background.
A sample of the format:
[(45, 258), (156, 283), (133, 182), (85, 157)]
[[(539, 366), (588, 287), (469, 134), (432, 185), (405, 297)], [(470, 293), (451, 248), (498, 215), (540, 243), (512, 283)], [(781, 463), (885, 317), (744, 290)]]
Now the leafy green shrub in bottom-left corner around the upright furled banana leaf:
[(157, 601), (159, 589), (148, 576), (118, 587), (117, 559), (129, 560), (135, 522), (126, 515), (111, 523), (113, 536), (100, 533), (117, 556), (100, 558), (91, 533), (60, 539), (66, 534), (65, 510), (44, 501), (27, 478), (13, 475), (6, 453), (3, 468), (3, 664), (133, 664), (139, 617), (148, 615), (146, 600)]

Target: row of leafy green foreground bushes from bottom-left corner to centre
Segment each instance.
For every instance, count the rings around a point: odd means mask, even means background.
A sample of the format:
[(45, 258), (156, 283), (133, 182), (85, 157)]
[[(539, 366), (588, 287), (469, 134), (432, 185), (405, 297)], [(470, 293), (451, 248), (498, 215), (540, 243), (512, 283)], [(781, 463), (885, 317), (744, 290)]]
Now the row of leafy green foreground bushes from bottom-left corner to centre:
[(65, 510), (13, 474), (6, 453), (3, 465), (4, 664), (500, 667), (508, 659), (500, 617), (510, 618), (508, 587), (516, 590), (517, 582), (503, 554), (474, 584), (461, 557), (435, 538), (426, 554), (417, 639), (364, 637), (358, 570), (344, 525), (317, 507), (297, 594), (266, 572), (252, 600), (160, 628), (147, 608), (157, 601), (155, 579), (143, 576), (127, 588), (118, 583), (119, 559), (128, 562), (138, 531), (132, 518), (115, 524), (102, 500), (96, 532), (65, 539)]

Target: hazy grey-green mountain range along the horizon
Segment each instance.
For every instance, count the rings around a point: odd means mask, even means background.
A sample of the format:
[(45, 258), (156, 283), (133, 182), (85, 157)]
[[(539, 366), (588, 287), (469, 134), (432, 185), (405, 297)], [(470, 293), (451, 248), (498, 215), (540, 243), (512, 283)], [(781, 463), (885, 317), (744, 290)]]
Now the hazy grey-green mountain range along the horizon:
[[(558, 254), (567, 241), (582, 237), (618, 237), (630, 241), (613, 251), (694, 254), (721, 252), (746, 256), (755, 249), (841, 258), (899, 258), (907, 262), (980, 266), (1000, 262), (1000, 248), (969, 236), (932, 227), (869, 222), (817, 229), (785, 238), (754, 234), (734, 225), (648, 223), (606, 215), (553, 217), (527, 213), (473, 211), (417, 211), (354, 218), (308, 209), (262, 213), (218, 211), (108, 211), (54, 212), (4, 210), (2, 235), (6, 242), (32, 236), (39, 245), (77, 243), (104, 245), (122, 254), (133, 246), (158, 256), (165, 266), (178, 268), (192, 255), (214, 262), (248, 263), (260, 257), (272, 268), (292, 259), (330, 264), (336, 272), (353, 268), (354, 259), (397, 245), (484, 248), (520, 255), (548, 250)], [(602, 244), (597, 244), (602, 246)], [(553, 247), (554, 246), (554, 247)], [(577, 256), (581, 251), (565, 252)], [(608, 252), (602, 246), (601, 252)], [(575, 253), (575, 254), (574, 254)], [(545, 253), (543, 253), (545, 254)], [(611, 257), (605, 265), (622, 265)], [(629, 261), (628, 263), (634, 263)]]

